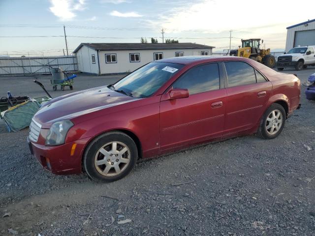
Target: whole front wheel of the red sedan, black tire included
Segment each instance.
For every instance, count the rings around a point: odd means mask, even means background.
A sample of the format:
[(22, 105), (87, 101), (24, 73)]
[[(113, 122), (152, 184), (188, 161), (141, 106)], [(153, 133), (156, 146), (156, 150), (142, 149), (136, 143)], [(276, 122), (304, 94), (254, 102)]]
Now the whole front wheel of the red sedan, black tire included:
[[(119, 154), (119, 151), (123, 153)], [(115, 131), (96, 137), (88, 145), (83, 155), (83, 166), (92, 179), (111, 182), (127, 176), (137, 159), (138, 150), (134, 141), (125, 133)]]

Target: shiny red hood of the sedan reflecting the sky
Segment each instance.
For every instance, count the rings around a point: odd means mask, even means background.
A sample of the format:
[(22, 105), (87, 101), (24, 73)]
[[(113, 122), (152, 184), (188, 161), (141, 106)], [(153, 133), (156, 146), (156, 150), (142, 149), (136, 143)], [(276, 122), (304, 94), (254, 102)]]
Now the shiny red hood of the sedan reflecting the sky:
[(62, 119), (71, 119), (108, 107), (138, 100), (125, 94), (108, 89), (106, 86), (87, 89), (54, 98), (35, 114), (34, 119), (43, 128)]

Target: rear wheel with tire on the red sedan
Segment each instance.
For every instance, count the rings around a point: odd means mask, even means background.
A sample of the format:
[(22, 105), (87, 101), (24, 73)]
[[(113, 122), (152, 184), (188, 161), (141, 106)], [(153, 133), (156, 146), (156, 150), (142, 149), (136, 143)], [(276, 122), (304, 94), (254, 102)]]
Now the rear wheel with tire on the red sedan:
[[(275, 114), (273, 112), (275, 112)], [(277, 118), (278, 114), (280, 115)], [(258, 135), (264, 139), (274, 139), (278, 137), (284, 129), (285, 119), (286, 114), (284, 107), (278, 103), (273, 103), (261, 118)], [(269, 125), (271, 125), (271, 127)], [(273, 133), (274, 131), (276, 132)]]

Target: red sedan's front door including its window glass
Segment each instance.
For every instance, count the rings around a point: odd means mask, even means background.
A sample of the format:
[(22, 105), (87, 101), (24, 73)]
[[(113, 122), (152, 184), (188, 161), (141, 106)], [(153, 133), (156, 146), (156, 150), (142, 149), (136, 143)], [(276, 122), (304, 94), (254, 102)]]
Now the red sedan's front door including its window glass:
[(172, 88), (188, 89), (189, 97), (161, 99), (161, 150), (222, 136), (226, 91), (220, 89), (218, 63), (191, 68)]

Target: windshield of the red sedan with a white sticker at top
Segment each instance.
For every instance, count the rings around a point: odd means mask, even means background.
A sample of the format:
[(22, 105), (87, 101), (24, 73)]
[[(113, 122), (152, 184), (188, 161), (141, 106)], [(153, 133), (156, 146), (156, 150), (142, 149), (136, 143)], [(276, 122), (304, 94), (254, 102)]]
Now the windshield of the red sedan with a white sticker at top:
[(109, 88), (133, 97), (149, 97), (183, 66), (177, 63), (151, 62)]

